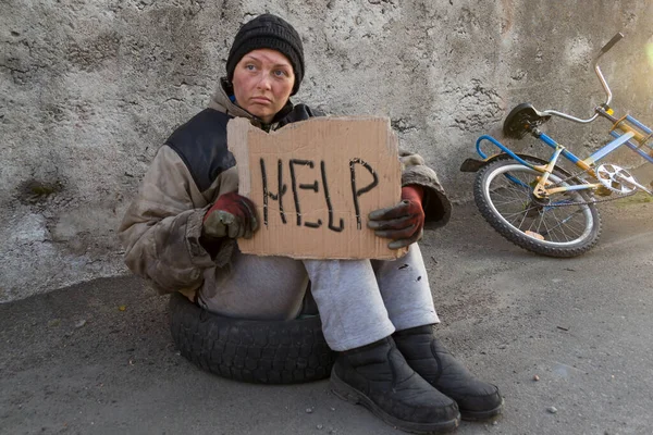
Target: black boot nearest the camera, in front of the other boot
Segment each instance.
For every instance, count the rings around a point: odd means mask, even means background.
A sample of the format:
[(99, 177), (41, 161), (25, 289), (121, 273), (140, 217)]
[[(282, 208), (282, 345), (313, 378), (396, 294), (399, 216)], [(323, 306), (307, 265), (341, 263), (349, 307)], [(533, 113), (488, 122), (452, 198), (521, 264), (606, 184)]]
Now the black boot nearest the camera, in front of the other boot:
[(408, 366), (392, 337), (342, 352), (331, 371), (331, 389), (403, 431), (443, 433), (460, 422), (456, 402)]

